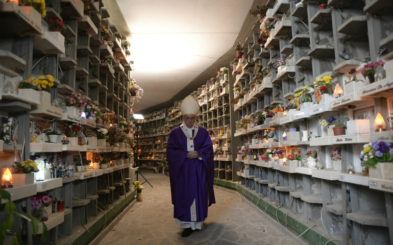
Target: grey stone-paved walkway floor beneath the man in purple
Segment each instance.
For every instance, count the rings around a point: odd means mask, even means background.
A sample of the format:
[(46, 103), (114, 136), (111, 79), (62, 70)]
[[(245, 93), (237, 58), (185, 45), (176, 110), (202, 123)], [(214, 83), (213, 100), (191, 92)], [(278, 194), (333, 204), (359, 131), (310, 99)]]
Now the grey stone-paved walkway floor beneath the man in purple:
[(216, 204), (209, 208), (203, 230), (182, 238), (182, 229), (173, 218), (169, 177), (148, 170), (141, 170), (141, 173), (154, 188), (148, 183), (143, 184), (143, 202), (136, 203), (100, 245), (306, 244), (294, 239), (296, 236), (292, 233), (278, 229), (278, 224), (266, 220), (265, 215), (243, 203), (238, 195), (219, 188), (214, 190)]

